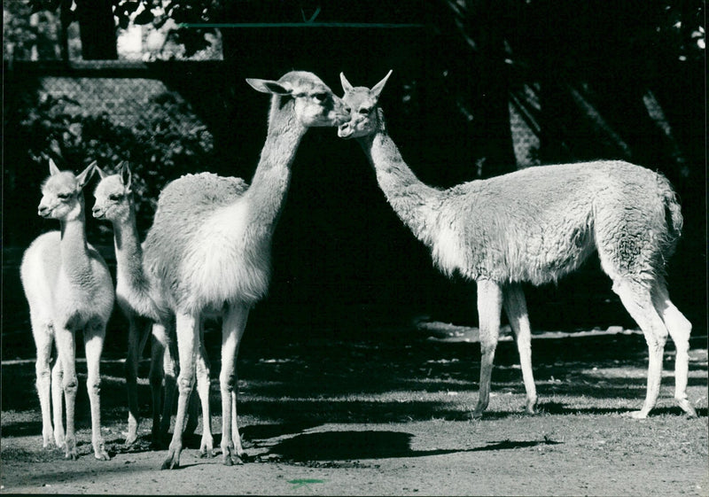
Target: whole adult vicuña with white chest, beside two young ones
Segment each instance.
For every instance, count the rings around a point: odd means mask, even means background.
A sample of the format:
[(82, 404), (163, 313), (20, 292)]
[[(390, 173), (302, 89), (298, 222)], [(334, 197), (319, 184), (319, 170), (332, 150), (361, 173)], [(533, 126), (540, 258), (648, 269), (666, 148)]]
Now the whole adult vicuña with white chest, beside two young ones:
[(266, 144), (251, 186), (208, 173), (169, 183), (144, 243), (145, 268), (175, 313), (179, 348), (175, 431), (163, 468), (180, 463), (199, 326), (210, 315), (222, 317), (222, 461), (230, 465), (244, 455), (237, 421), (238, 346), (249, 309), (268, 290), (272, 237), (292, 160), (308, 128), (348, 119), (339, 97), (315, 74), (293, 71), (278, 81), (246, 81), (272, 95)]

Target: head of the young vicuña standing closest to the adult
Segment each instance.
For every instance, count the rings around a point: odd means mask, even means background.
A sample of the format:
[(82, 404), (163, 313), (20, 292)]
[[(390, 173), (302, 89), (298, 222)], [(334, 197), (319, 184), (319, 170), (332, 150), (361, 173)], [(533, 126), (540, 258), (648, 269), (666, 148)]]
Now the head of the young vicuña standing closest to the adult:
[(132, 175), (128, 162), (123, 162), (114, 175), (105, 173), (96, 167), (101, 182), (94, 191), (96, 202), (92, 214), (96, 219), (105, 221), (128, 221), (131, 215), (130, 188)]

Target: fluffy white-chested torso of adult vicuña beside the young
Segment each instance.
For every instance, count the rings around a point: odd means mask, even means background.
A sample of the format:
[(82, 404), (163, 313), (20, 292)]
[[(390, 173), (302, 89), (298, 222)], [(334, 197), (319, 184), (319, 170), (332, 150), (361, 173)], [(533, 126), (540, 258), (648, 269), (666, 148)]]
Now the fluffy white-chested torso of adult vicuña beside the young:
[(270, 237), (254, 237), (258, 226), (247, 222), (246, 188), (239, 178), (203, 173), (185, 175), (160, 193), (144, 247), (149, 255), (160, 251), (148, 267), (171, 306), (219, 311), (225, 303), (254, 303), (268, 291)]

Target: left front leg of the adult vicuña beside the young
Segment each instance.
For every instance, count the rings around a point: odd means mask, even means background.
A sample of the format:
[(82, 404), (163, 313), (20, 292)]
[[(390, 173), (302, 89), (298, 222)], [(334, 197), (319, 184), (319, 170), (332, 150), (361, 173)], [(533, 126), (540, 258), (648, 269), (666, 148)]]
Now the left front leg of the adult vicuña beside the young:
[(177, 348), (180, 356), (180, 375), (177, 377), (179, 397), (177, 398), (177, 415), (175, 416), (175, 431), (168, 449), (168, 458), (162, 463), (163, 470), (173, 470), (180, 467), (180, 454), (183, 450), (184, 418), (187, 414), (187, 404), (194, 384), (195, 364), (194, 354), (199, 348), (199, 317), (183, 313), (175, 315), (177, 330)]

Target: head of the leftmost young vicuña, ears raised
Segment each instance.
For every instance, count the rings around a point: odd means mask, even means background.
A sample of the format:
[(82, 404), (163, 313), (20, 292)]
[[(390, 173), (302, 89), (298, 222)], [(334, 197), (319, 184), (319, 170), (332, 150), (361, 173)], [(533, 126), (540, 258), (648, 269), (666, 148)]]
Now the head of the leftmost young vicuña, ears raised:
[(50, 176), (42, 184), (42, 200), (37, 214), (45, 219), (70, 221), (78, 218), (83, 210), (83, 187), (91, 179), (96, 161), (79, 175), (71, 171), (59, 171), (50, 159)]

